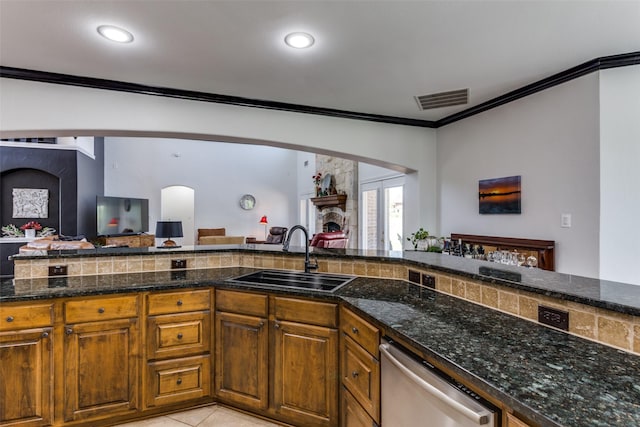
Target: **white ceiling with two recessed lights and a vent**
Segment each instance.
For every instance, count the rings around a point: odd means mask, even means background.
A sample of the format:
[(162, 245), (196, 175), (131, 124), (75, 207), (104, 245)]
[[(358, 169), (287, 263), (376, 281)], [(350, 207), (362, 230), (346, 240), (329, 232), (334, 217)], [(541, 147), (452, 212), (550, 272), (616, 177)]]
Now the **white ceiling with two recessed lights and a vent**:
[[(634, 51), (640, 0), (0, 0), (2, 66), (422, 120)], [(463, 88), (466, 106), (413, 99)]]

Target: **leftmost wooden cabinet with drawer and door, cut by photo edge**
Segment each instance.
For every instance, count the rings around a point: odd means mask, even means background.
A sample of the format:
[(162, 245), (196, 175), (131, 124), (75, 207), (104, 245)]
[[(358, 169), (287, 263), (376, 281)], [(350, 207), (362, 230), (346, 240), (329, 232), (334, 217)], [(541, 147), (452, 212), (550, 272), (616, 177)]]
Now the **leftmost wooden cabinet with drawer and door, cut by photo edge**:
[(52, 424), (52, 324), (52, 304), (0, 306), (0, 426)]

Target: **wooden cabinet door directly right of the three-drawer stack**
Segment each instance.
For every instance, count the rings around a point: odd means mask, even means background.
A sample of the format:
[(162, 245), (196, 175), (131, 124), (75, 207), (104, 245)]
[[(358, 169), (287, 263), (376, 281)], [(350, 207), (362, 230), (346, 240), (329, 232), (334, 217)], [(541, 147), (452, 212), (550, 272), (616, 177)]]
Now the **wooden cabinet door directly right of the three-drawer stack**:
[(215, 390), (220, 400), (264, 410), (268, 401), (267, 320), (216, 313)]

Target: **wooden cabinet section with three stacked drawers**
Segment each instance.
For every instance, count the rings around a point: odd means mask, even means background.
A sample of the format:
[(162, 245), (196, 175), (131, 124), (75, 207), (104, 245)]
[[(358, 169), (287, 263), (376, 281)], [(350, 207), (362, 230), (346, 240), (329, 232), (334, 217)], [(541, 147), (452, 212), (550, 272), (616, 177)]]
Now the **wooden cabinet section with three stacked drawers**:
[(211, 291), (147, 295), (145, 408), (211, 395)]

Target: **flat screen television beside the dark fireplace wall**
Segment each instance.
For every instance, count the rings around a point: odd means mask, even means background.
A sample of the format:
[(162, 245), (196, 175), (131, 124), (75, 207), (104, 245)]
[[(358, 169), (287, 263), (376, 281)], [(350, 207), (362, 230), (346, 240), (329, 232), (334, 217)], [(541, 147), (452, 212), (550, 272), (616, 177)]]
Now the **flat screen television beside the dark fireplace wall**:
[(126, 236), (149, 231), (149, 200), (96, 197), (98, 236)]

